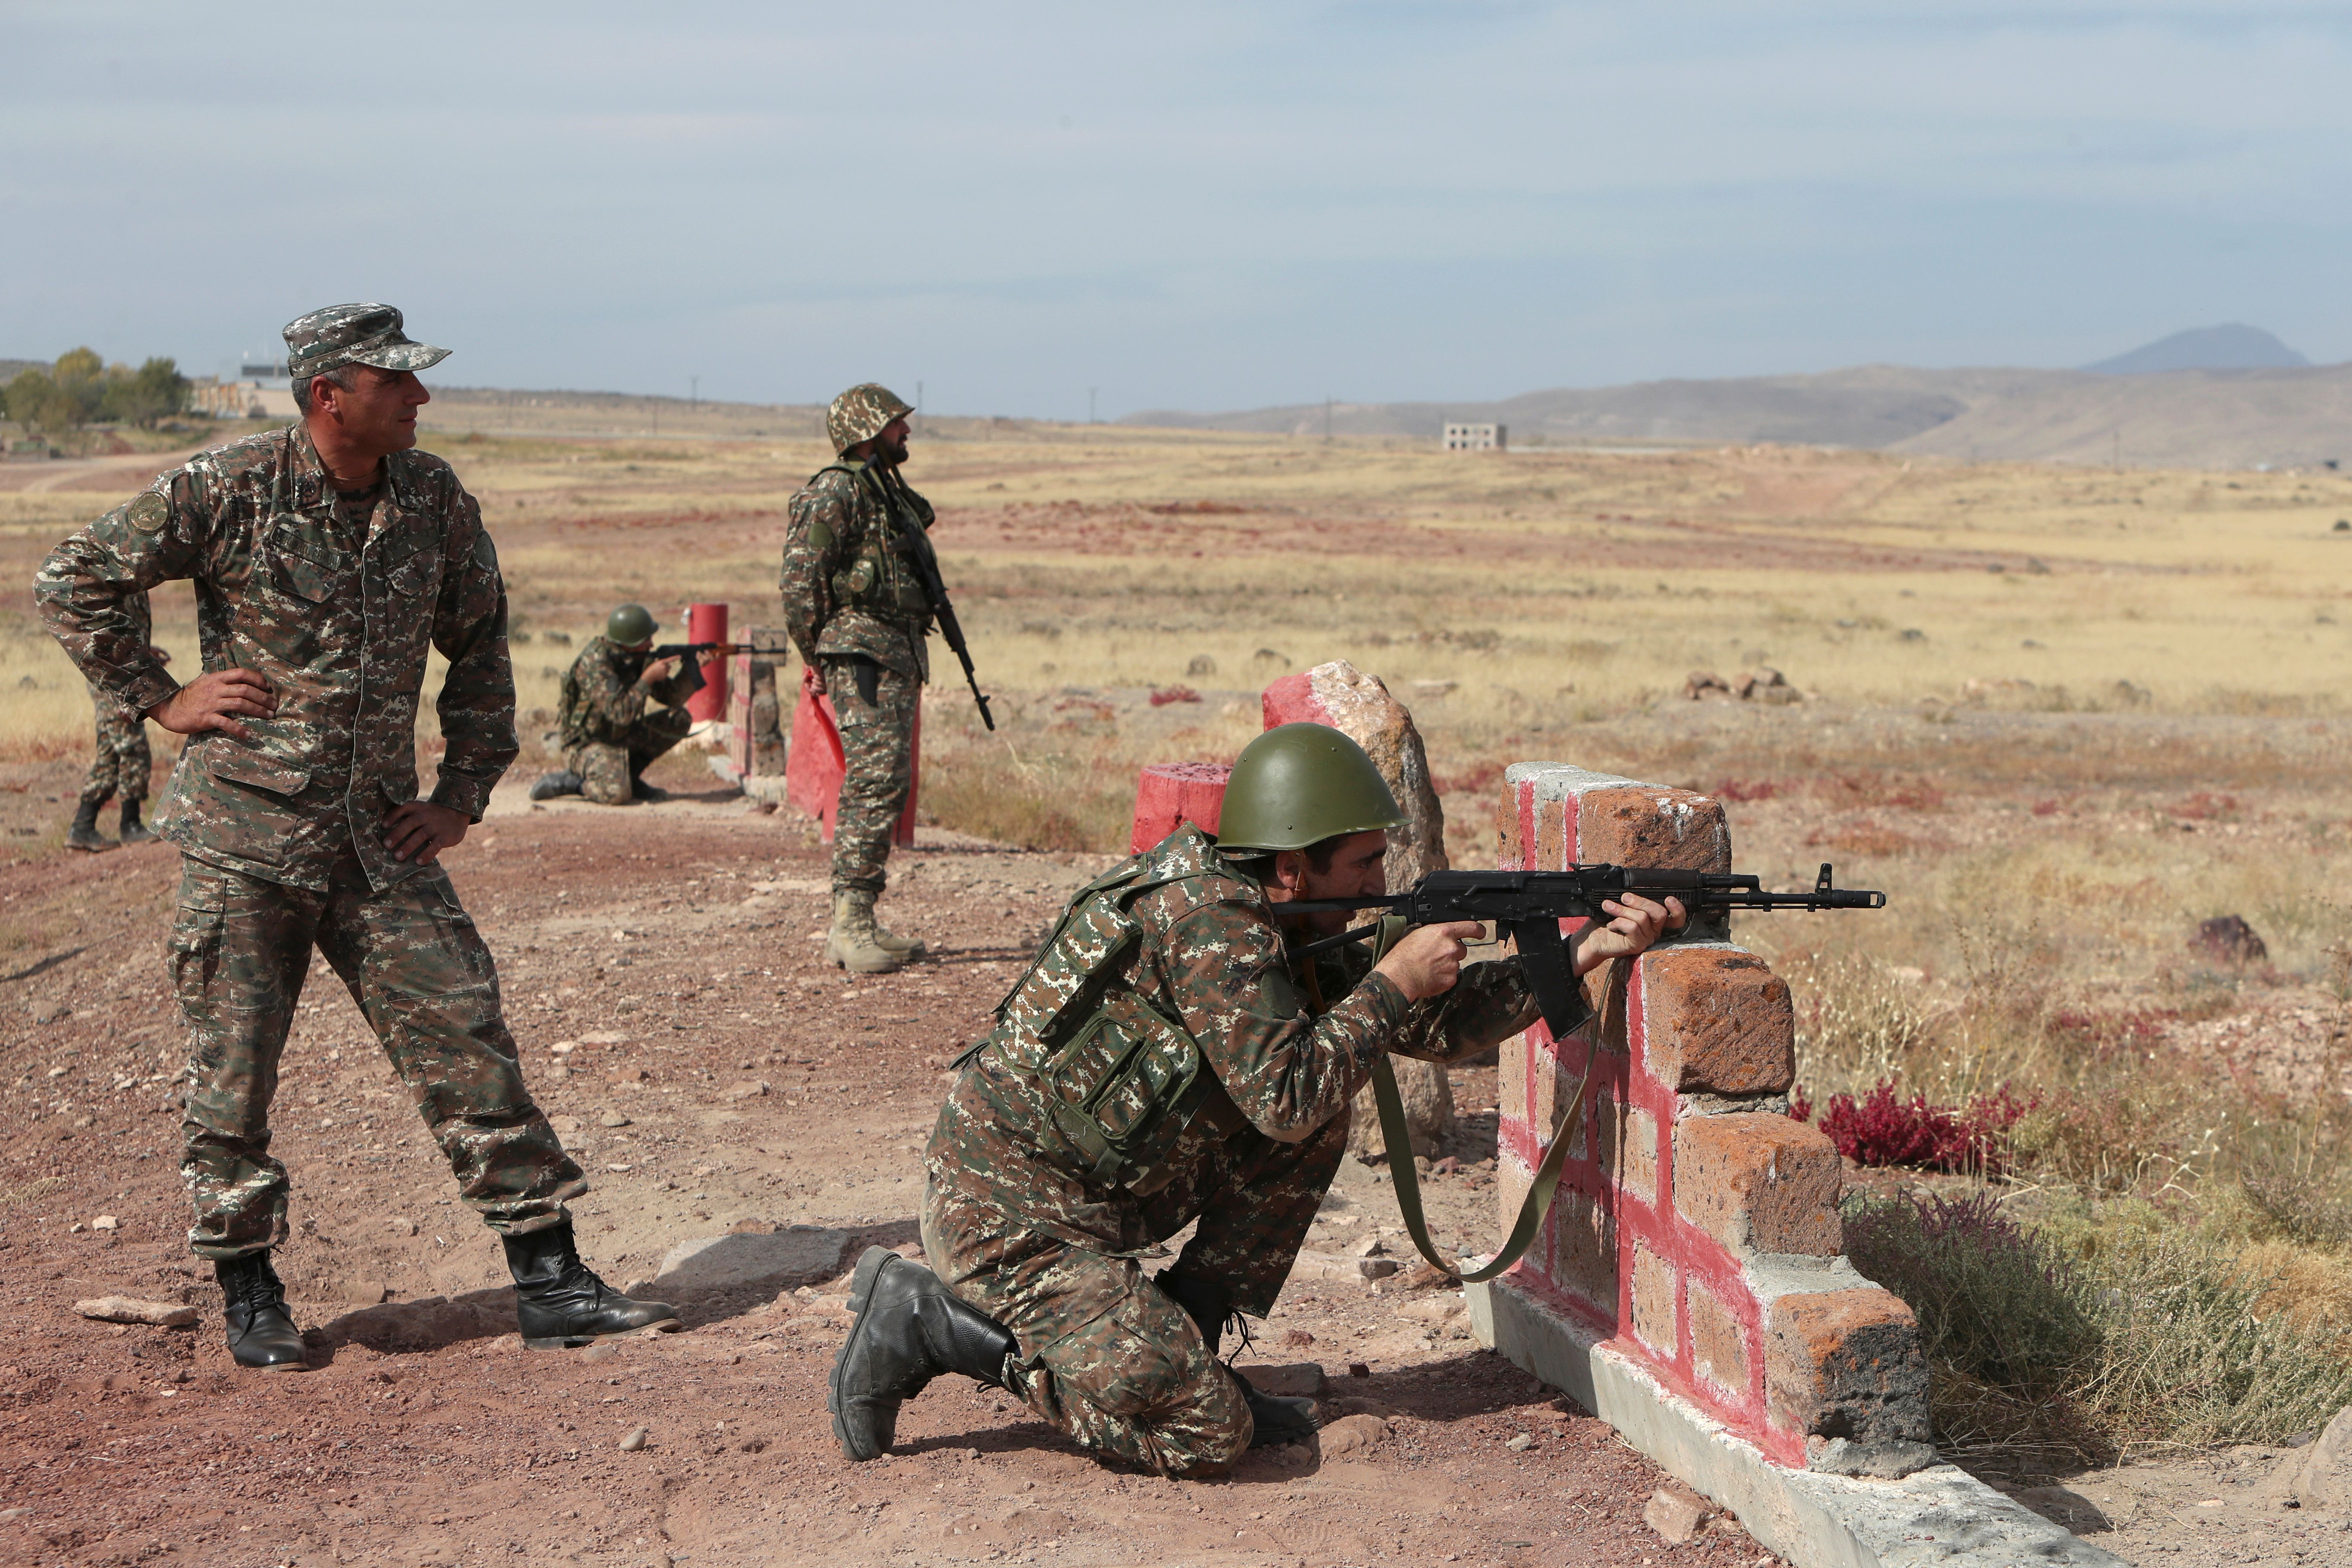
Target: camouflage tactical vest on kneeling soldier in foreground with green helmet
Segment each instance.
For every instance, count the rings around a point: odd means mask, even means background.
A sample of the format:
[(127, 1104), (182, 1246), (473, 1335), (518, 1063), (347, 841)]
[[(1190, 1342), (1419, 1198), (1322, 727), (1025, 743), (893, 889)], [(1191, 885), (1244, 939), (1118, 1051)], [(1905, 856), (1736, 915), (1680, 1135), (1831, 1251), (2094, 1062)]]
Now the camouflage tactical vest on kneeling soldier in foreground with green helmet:
[(1169, 1154), (1195, 1121), (1247, 1126), (1200, 1041), (1122, 983), (1143, 943), (1136, 900), (1181, 882), (1204, 884), (1195, 907), (1223, 898), (1209, 884), (1237, 882), (1190, 823), (1080, 889), (974, 1048), (1037, 1084), (1091, 1180), (1136, 1194), (1174, 1180)]

